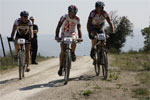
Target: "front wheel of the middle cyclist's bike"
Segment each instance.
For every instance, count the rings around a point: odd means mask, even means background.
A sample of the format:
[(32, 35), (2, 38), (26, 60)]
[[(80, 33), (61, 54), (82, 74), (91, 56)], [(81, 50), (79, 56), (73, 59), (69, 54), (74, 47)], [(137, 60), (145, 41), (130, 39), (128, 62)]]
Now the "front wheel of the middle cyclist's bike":
[(71, 53), (69, 50), (66, 51), (64, 60), (65, 60), (64, 62), (64, 72), (65, 72), (64, 84), (67, 84), (69, 80), (70, 67), (71, 67)]

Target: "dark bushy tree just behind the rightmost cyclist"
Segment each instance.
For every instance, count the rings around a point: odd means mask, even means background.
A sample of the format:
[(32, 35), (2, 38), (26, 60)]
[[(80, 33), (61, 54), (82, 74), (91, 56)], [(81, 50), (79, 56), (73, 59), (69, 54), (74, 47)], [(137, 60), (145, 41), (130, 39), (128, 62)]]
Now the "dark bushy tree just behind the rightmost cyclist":
[[(126, 16), (118, 17), (116, 12), (110, 12), (110, 18), (114, 24), (115, 34), (107, 39), (107, 49), (110, 51), (120, 52), (126, 42), (126, 37), (133, 36), (133, 24)], [(110, 27), (106, 27), (106, 34), (111, 33)]]

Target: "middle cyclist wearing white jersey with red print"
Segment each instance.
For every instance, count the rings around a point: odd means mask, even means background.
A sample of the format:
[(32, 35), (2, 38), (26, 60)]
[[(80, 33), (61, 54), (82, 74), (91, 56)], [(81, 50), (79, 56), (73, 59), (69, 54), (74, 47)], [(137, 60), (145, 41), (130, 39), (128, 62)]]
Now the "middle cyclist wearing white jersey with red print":
[[(62, 16), (58, 22), (57, 28), (56, 28), (56, 36), (55, 40), (57, 42), (60, 42), (60, 39), (64, 37), (71, 37), (72, 33), (75, 33), (75, 27), (77, 26), (78, 30), (78, 37), (79, 37), (79, 42), (82, 41), (82, 33), (81, 33), (81, 24), (80, 24), (80, 19), (79, 17), (76, 16), (77, 14), (77, 7), (74, 5), (70, 5), (68, 7), (68, 14), (65, 14)], [(60, 28), (62, 27), (62, 32), (61, 32), (61, 38), (59, 38), (59, 31)], [(65, 44), (61, 43), (61, 52), (60, 52), (60, 68), (58, 70), (58, 75), (62, 75), (62, 67), (63, 67), (63, 58), (64, 58), (64, 51), (65, 51)], [(75, 48), (76, 48), (76, 43), (72, 43), (72, 61), (76, 60), (76, 55), (75, 55)]]

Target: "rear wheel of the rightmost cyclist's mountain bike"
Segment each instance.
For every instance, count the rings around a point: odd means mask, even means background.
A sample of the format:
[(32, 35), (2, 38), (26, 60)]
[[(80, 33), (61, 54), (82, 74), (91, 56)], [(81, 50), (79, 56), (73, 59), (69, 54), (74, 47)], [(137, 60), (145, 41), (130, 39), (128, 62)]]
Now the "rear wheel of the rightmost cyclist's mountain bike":
[(95, 69), (95, 73), (96, 76), (98, 76), (100, 74), (100, 63), (99, 63), (99, 53), (96, 52), (95, 54), (95, 58), (94, 58), (94, 69)]

